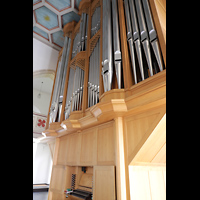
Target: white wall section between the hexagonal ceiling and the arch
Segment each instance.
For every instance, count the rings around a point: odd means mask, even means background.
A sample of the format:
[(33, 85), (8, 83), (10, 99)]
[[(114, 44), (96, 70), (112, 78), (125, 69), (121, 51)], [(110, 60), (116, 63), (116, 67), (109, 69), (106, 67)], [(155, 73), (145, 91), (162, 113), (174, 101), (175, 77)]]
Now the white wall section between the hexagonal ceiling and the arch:
[(33, 38), (33, 72), (39, 70), (56, 71), (58, 53), (58, 50)]

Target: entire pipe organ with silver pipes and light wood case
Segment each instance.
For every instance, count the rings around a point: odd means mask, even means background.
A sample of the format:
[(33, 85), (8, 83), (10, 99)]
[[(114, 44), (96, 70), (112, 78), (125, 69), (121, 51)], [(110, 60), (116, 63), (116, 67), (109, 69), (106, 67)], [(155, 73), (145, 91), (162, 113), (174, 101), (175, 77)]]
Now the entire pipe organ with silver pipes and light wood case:
[(82, 0), (79, 15), (63, 28), (43, 131), (48, 200), (165, 199), (166, 1)]

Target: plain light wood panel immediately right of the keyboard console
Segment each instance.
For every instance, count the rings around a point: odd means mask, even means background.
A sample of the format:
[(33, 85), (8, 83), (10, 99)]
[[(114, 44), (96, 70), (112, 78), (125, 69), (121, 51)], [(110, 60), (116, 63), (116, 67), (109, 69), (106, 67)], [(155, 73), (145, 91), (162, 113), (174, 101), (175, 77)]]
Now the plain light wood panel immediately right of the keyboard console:
[(94, 167), (94, 188), (93, 199), (115, 200), (115, 167), (95, 166)]

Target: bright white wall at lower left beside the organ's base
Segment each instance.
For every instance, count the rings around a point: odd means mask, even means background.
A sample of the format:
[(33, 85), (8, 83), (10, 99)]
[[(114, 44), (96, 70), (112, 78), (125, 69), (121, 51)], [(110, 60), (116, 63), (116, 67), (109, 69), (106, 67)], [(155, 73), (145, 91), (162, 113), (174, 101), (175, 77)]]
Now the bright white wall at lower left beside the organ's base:
[(34, 144), (33, 184), (50, 183), (52, 159), (48, 144)]

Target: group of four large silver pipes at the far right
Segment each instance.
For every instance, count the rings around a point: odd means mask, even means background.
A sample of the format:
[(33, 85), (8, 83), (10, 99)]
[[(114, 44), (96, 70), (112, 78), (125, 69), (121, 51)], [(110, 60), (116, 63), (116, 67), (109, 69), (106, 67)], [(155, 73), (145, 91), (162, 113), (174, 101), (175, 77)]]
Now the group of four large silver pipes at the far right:
[[(131, 63), (132, 66), (136, 66), (133, 50), (135, 49), (141, 80), (144, 80), (145, 78), (148, 78), (148, 74), (147, 69), (144, 66), (143, 59), (146, 58), (145, 63), (147, 63), (147, 68), (149, 69), (150, 76), (153, 76), (154, 70), (155, 73), (157, 73), (158, 70), (156, 66), (159, 67), (160, 71), (163, 70), (162, 55), (157, 40), (157, 34), (153, 23), (149, 2), (148, 0), (124, 0), (124, 8)], [(131, 30), (132, 33), (130, 33)], [(131, 42), (131, 39), (129, 38), (132, 38)], [(151, 51), (150, 43), (153, 51)], [(133, 48), (130, 46), (133, 46)], [(144, 56), (142, 56), (143, 52)], [(155, 55), (156, 61), (152, 54)], [(139, 79), (137, 74), (138, 73), (136, 68), (133, 68), (135, 83), (137, 83)]]

